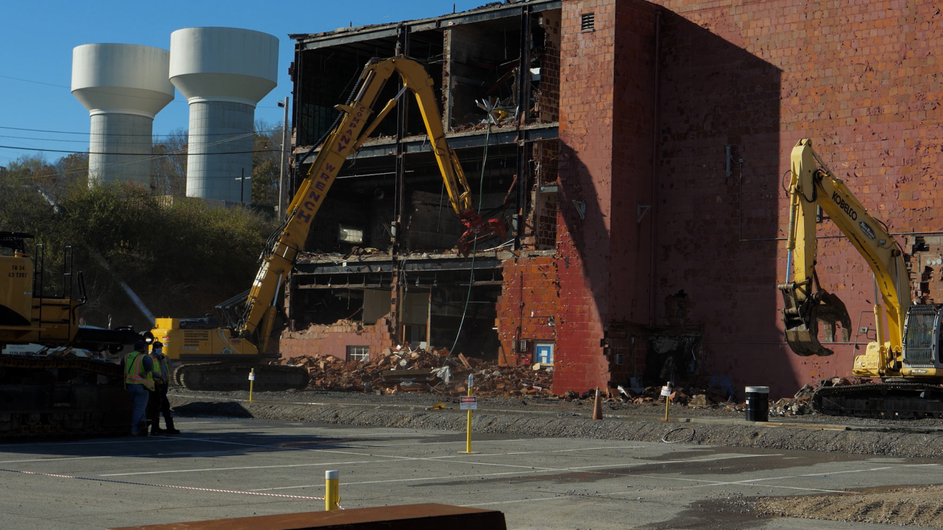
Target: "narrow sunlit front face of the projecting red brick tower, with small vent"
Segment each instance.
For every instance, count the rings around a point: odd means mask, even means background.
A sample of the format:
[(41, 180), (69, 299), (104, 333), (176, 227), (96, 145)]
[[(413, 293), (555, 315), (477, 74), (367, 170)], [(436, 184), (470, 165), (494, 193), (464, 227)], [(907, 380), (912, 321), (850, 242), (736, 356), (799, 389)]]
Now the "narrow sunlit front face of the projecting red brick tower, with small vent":
[[(581, 31), (590, 12), (595, 30)], [(608, 381), (599, 342), (608, 318), (616, 0), (565, 0), (561, 17), (557, 394)], [(573, 201), (585, 203), (583, 218)]]

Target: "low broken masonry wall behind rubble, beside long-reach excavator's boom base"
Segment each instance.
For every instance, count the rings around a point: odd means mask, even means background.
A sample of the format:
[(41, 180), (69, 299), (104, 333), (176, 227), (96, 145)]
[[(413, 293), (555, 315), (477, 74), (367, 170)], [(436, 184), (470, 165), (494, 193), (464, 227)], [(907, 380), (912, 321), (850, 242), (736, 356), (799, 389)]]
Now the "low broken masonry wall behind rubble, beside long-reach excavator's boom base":
[(370, 358), (392, 346), (389, 322), (383, 318), (375, 324), (339, 321), (328, 325), (312, 324), (303, 331), (285, 331), (279, 342), (282, 357), (336, 356), (346, 360), (347, 346), (369, 346)]

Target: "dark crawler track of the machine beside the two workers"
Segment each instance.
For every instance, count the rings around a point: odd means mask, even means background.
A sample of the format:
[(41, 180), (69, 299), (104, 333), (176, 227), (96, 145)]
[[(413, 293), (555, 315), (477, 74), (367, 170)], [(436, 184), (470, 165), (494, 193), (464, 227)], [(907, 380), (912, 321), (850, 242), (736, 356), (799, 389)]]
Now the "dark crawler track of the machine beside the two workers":
[(127, 436), (131, 409), (118, 364), (0, 357), (0, 439)]

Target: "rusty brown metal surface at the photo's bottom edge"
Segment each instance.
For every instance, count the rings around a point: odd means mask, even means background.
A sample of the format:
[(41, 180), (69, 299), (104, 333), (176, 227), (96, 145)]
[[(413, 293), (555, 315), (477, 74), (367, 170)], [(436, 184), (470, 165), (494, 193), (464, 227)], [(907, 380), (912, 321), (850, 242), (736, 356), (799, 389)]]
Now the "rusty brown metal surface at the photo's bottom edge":
[(379, 506), (212, 521), (126, 526), (109, 530), (506, 530), (505, 514), (453, 505)]

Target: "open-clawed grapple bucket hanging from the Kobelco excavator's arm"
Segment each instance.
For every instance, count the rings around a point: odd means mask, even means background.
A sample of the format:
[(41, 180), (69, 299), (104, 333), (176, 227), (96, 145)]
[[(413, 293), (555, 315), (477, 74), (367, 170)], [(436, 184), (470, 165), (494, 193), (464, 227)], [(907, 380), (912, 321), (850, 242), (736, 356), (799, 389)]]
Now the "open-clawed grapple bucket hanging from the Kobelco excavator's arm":
[(826, 342), (835, 342), (835, 328), (841, 324), (842, 341), (851, 340), (852, 318), (844, 302), (825, 290), (809, 293), (811, 282), (788, 283), (779, 286), (786, 306), (786, 342), (797, 356), (831, 356), (835, 352), (819, 341), (819, 322), (825, 325)]

